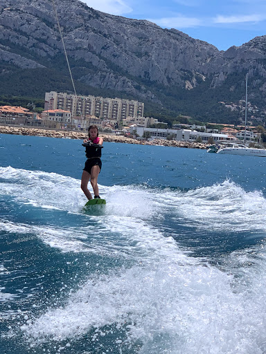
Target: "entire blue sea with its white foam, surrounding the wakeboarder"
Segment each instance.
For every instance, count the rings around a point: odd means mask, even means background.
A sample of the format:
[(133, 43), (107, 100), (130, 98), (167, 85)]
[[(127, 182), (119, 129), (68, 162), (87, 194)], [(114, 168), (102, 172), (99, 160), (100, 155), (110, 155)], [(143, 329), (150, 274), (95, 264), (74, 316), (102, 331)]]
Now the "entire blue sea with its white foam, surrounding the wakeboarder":
[(266, 158), (0, 135), (0, 353), (266, 353)]

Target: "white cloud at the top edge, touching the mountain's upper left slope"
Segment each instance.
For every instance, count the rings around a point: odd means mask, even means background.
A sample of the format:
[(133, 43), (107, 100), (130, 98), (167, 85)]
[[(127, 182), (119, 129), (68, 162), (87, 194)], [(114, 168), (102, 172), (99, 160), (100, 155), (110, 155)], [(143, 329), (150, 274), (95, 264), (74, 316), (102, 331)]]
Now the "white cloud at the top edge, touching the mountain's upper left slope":
[(128, 6), (123, 0), (83, 0), (87, 6), (107, 12), (112, 15), (123, 15), (132, 12), (132, 8)]

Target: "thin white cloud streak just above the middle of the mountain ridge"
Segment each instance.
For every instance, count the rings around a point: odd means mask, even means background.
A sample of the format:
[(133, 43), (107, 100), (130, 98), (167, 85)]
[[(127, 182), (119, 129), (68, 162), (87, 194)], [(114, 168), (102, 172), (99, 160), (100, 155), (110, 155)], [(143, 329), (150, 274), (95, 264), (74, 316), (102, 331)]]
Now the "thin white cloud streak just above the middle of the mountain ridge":
[(195, 17), (162, 17), (161, 19), (148, 19), (148, 21), (166, 28), (191, 28), (202, 26), (202, 20)]

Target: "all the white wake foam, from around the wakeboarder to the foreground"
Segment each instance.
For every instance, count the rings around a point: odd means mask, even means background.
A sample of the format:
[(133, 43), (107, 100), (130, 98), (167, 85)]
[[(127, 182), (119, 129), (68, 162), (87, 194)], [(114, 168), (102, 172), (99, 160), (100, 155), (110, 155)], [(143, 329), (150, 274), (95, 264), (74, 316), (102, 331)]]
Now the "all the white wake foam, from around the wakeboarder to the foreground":
[(12, 195), (17, 203), (76, 213), (87, 225), (1, 221), (0, 230), (30, 232), (67, 252), (134, 260), (130, 269), (92, 275), (78, 292), (69, 294), (65, 306), (48, 308), (37, 319), (29, 313), (21, 326), (29, 342), (75, 341), (91, 329), (115, 324), (127, 333), (121, 350), (141, 341), (142, 354), (263, 353), (263, 246), (254, 250), (261, 253), (256, 262), (245, 250), (239, 251), (239, 262), (228, 257), (222, 271), (186, 257), (160, 229), (167, 216), (199, 230), (265, 231), (261, 192), (245, 192), (229, 181), (189, 192), (165, 190), (163, 198), (154, 189), (100, 186), (107, 205), (103, 214), (94, 216), (82, 214), (85, 197), (80, 181), (73, 178), (8, 167), (1, 180), (0, 193)]

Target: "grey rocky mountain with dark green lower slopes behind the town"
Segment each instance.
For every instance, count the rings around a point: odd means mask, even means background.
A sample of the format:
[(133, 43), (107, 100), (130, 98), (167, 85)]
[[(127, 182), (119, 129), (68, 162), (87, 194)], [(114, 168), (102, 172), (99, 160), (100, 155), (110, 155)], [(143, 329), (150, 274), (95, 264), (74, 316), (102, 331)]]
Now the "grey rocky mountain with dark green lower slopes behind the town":
[[(249, 100), (256, 119), (265, 120), (266, 36), (220, 51), (78, 0), (55, 0), (55, 7), (78, 93), (130, 97), (158, 112), (217, 121), (228, 113), (219, 102), (245, 99), (248, 73)], [(72, 91), (53, 1), (0, 0), (0, 94), (45, 91)]]

